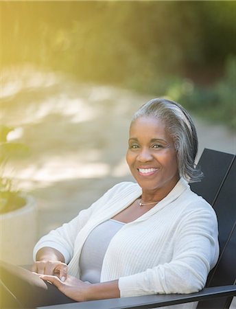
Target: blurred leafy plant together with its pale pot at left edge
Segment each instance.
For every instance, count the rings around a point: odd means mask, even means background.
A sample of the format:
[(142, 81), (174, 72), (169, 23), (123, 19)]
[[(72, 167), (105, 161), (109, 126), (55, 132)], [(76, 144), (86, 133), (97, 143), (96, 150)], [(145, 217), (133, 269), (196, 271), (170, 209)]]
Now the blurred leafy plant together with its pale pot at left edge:
[(27, 152), (24, 144), (8, 140), (12, 127), (0, 127), (0, 259), (13, 264), (31, 264), (36, 242), (36, 203), (16, 189), (6, 176), (8, 160)]

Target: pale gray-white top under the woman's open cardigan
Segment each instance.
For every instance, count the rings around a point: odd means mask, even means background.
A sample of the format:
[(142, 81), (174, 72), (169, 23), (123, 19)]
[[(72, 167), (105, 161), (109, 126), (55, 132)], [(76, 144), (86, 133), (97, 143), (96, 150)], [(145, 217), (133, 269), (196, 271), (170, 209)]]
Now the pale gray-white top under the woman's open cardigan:
[(126, 223), (107, 220), (91, 231), (80, 253), (80, 279), (92, 284), (100, 282), (102, 262), (110, 240)]

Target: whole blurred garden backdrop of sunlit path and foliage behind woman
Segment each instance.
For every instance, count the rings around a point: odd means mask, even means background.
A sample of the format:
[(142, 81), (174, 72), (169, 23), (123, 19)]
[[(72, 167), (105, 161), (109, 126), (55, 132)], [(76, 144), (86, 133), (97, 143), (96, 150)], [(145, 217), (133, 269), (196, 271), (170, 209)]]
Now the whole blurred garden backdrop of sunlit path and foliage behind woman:
[[(130, 117), (180, 102), (204, 147), (235, 153), (235, 1), (1, 1), (1, 174), (36, 198), (37, 238), (126, 166)], [(2, 132), (3, 135), (3, 132)]]

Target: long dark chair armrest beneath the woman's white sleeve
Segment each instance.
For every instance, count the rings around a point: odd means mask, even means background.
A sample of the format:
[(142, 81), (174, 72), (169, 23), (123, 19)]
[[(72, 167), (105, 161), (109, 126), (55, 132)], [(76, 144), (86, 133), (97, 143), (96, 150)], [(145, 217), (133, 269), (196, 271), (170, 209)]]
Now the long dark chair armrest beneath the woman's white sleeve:
[(191, 301), (203, 301), (216, 297), (231, 297), (236, 295), (236, 285), (216, 286), (204, 288), (198, 293), (192, 294), (159, 294), (137, 297), (122, 297), (102, 299), (97, 301), (82, 301), (80, 303), (62, 304), (56, 306), (44, 306), (37, 309), (135, 309), (154, 308), (176, 304), (185, 304)]

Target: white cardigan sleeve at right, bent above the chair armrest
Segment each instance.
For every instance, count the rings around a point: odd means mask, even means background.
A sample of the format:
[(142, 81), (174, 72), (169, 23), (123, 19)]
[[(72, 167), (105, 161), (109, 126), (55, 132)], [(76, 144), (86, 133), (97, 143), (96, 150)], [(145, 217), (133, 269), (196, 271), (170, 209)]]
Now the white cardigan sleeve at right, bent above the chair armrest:
[(119, 278), (121, 297), (195, 293), (204, 288), (219, 255), (217, 218), (209, 208), (192, 209), (175, 231), (172, 260)]

